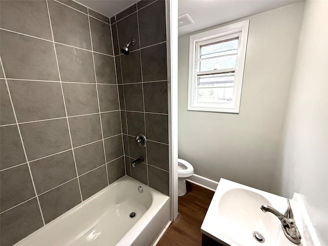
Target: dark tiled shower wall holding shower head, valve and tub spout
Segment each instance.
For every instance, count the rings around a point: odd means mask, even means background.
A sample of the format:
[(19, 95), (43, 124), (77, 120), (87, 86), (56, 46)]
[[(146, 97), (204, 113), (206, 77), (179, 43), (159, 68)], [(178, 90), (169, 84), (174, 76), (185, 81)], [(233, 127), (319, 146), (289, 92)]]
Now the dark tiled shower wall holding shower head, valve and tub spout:
[[(111, 18), (117, 83), (121, 105), (126, 172), (169, 195), (168, 72), (166, 4), (140, 1)], [(120, 48), (130, 40), (130, 54)], [(135, 136), (144, 134), (147, 147)], [(145, 162), (131, 166), (144, 157)]]

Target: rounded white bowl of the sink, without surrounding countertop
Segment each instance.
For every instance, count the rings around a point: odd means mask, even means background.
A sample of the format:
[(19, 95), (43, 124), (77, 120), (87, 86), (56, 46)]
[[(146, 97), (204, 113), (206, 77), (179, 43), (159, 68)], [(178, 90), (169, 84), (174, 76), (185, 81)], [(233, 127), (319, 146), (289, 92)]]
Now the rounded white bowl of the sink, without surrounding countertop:
[(227, 191), (218, 204), (219, 221), (223, 225), (220, 230), (241, 245), (256, 243), (254, 233), (263, 236), (262, 245), (276, 243), (280, 222), (275, 216), (261, 211), (263, 204), (272, 206), (267, 198), (253, 191), (239, 188)]

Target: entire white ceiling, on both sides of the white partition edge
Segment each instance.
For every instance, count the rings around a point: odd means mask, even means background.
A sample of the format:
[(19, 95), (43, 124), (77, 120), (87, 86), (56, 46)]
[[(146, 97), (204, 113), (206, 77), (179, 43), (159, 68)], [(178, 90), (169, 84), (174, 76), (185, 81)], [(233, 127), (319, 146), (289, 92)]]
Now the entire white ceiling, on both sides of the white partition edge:
[[(76, 0), (108, 17), (118, 14), (139, 0)], [(163, 0), (159, 0), (163, 1)], [(212, 27), (232, 20), (294, 4), (302, 0), (173, 0), (178, 15), (188, 14), (194, 24), (178, 28), (178, 35)]]

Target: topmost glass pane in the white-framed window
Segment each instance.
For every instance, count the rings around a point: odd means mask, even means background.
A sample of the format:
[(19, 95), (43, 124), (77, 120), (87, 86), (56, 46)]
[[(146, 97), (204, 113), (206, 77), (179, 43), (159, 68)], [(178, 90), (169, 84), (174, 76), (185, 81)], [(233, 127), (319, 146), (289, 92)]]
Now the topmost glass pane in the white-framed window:
[(200, 46), (200, 55), (209, 55), (215, 53), (220, 55), (221, 52), (233, 51), (238, 49), (238, 37), (235, 39), (224, 40)]

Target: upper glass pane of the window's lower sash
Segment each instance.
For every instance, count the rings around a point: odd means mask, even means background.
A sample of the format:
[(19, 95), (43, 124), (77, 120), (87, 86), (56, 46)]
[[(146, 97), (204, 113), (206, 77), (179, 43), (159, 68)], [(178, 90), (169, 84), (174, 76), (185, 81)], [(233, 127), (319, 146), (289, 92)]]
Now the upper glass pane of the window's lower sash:
[(235, 73), (220, 73), (211, 75), (200, 75), (197, 78), (197, 87), (233, 87)]

